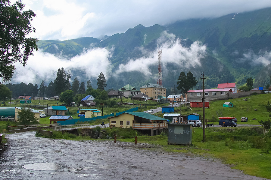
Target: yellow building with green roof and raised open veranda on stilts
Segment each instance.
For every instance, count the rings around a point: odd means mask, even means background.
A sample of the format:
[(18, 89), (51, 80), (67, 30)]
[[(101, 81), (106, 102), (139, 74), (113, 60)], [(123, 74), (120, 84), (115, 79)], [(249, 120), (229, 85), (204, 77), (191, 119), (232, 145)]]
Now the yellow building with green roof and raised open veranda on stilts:
[(141, 130), (145, 134), (156, 135), (159, 134), (159, 129), (167, 128), (167, 119), (160, 118), (148, 113), (122, 113), (118, 116), (114, 116), (109, 119), (110, 127), (122, 127), (122, 128), (133, 128)]

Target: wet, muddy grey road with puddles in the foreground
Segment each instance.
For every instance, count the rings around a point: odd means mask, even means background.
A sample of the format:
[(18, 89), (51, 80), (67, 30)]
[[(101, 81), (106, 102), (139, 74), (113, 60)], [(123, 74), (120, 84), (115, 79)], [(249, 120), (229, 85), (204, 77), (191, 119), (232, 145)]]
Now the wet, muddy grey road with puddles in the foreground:
[(6, 135), (10, 149), (0, 158), (0, 179), (263, 179), (191, 154), (148, 150), (151, 145), (45, 139), (35, 133)]

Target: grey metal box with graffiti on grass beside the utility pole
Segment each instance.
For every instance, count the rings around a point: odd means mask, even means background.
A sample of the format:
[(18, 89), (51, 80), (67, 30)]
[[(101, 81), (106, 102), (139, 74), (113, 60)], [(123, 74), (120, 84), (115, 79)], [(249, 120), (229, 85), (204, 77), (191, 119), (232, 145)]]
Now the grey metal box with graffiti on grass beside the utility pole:
[(189, 145), (192, 142), (192, 125), (189, 124), (168, 124), (168, 144)]

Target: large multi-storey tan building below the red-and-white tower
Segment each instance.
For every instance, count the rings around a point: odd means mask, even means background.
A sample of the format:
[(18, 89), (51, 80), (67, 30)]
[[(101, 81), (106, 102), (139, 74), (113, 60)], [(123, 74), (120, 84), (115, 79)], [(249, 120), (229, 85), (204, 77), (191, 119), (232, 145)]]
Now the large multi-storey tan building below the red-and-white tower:
[(140, 91), (154, 99), (158, 99), (158, 96), (167, 97), (167, 88), (159, 84), (148, 83), (141, 86)]

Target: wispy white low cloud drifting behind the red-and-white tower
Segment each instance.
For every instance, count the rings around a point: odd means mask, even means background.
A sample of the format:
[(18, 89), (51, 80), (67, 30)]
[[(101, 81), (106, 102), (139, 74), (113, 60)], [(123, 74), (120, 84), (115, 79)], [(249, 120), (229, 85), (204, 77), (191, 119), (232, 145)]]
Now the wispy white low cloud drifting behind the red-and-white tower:
[(162, 49), (162, 66), (165, 68), (168, 63), (175, 64), (180, 68), (189, 68), (201, 65), (200, 59), (206, 54), (206, 45), (199, 41), (195, 41), (190, 47), (184, 47), (181, 39), (175, 40), (173, 34), (164, 33), (164, 36), (158, 40), (157, 50), (154, 52), (146, 52), (142, 49), (144, 57), (130, 59), (126, 64), (120, 64), (117, 74), (123, 72), (139, 71), (145, 76), (151, 76), (150, 67), (158, 65), (158, 49)]

